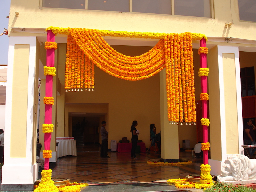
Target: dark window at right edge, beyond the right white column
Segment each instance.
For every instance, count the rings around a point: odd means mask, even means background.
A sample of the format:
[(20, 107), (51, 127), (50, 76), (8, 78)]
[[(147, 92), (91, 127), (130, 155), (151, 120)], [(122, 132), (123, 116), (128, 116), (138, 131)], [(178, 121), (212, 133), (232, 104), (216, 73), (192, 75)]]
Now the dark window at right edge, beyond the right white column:
[(255, 95), (254, 67), (240, 68), (242, 97)]

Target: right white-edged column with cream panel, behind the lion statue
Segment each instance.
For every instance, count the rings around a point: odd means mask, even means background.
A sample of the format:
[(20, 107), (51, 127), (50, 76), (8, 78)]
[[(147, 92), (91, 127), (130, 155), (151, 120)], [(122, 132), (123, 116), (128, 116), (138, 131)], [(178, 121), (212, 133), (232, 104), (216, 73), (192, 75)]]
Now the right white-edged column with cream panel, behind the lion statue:
[[(242, 119), (242, 99), (241, 99), (241, 82), (240, 82), (240, 64), (239, 64), (239, 50), (238, 47), (235, 46), (217, 46), (217, 54), (218, 54), (218, 63), (214, 63), (212, 61), (212, 65), (210, 64), (209, 67), (209, 105), (210, 105), (210, 122), (211, 122), (211, 132), (212, 131), (220, 131), (220, 134), (218, 138), (216, 138), (216, 135), (211, 134), (211, 159), (209, 159), (209, 164), (211, 165), (211, 174), (213, 175), (220, 175), (221, 174), (221, 168), (223, 165), (223, 162), (225, 159), (232, 155), (230, 152), (235, 152), (239, 154), (243, 154), (243, 148), (241, 145), (243, 145), (243, 119)], [(232, 58), (228, 58), (228, 60), (225, 58), (226, 56), (231, 55)], [(210, 58), (208, 58), (209, 60)], [(217, 67), (214, 67), (217, 66)], [(228, 82), (228, 73), (227, 68), (230, 67), (230, 70), (234, 70), (234, 73), (232, 77), (234, 77), (235, 82), (230, 84), (230, 89), (234, 91), (234, 95), (232, 98), (229, 98), (227, 85)], [(211, 70), (211, 67), (213, 70)], [(226, 69), (226, 71), (225, 71)], [(218, 71), (217, 71), (218, 70)], [(215, 74), (215, 77), (211, 79), (211, 75), (213, 75), (211, 72), (218, 72), (218, 77)], [(214, 76), (214, 75), (213, 75)], [(232, 78), (231, 77), (231, 78)], [(217, 82), (213, 82), (214, 80), (217, 80)], [(219, 84), (219, 90), (215, 90), (214, 88), (211, 89), (211, 85), (213, 84)], [(225, 86), (226, 85), (226, 86)], [(213, 85), (214, 87), (214, 85)], [(215, 92), (215, 95), (214, 93)], [(219, 94), (217, 95), (216, 94)], [(211, 95), (212, 93), (212, 95)], [(213, 96), (214, 95), (214, 96)], [(228, 107), (228, 102), (232, 100), (232, 102), (235, 105)], [(212, 102), (212, 103), (211, 103)], [(218, 114), (211, 114), (211, 106), (215, 108), (217, 107), (219, 110)], [(237, 110), (237, 116), (233, 116), (233, 119), (230, 119), (228, 117), (228, 111), (230, 112), (230, 108), (234, 107)], [(217, 111), (218, 111), (217, 110)], [(216, 111), (215, 111), (216, 112)], [(231, 110), (232, 112), (232, 110)], [(231, 124), (231, 125), (230, 125)], [(232, 133), (230, 130), (230, 126), (232, 126), (232, 129), (234, 130), (233, 134), (235, 134), (234, 139), (236, 139), (237, 142), (232, 143), (233, 147), (237, 150), (234, 150), (230, 147), (230, 143), (227, 140), (227, 136), (230, 135), (230, 137), (233, 137), (230, 133)], [(218, 142), (219, 146), (214, 147), (212, 143)], [(217, 144), (217, 143), (216, 143)], [(212, 155), (213, 154), (213, 155)]]

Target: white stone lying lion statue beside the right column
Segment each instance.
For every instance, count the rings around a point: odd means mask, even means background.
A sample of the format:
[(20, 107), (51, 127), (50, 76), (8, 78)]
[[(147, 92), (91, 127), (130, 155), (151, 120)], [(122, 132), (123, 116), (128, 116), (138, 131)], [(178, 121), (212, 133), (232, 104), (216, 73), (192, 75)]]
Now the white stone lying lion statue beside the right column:
[(249, 159), (245, 155), (233, 154), (223, 164), (219, 182), (256, 180), (256, 159)]

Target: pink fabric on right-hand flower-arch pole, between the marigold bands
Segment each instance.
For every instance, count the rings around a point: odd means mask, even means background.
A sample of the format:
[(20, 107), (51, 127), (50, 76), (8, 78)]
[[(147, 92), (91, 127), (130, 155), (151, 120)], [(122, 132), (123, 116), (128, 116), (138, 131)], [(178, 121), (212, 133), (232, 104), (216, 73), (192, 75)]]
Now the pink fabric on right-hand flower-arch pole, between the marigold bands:
[[(200, 47), (206, 47), (206, 40), (203, 38), (200, 40)], [(200, 54), (200, 67), (207, 68), (207, 57), (206, 54)], [(201, 89), (202, 93), (207, 93), (207, 76), (201, 76)], [(202, 101), (202, 118), (207, 117), (207, 101)], [(203, 142), (208, 142), (208, 127), (203, 125)], [(208, 151), (203, 151), (203, 164), (208, 164)]]

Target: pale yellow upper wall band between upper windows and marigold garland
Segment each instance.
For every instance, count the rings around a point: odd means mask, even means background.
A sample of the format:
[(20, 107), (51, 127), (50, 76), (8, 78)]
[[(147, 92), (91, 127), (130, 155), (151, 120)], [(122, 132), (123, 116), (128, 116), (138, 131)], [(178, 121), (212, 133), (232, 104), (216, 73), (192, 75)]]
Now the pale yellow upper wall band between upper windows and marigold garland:
[[(12, 0), (9, 25), (17, 28), (78, 27), (116, 31), (203, 33), (256, 40), (256, 23), (240, 22), (237, 1), (214, 0), (213, 18), (74, 9), (39, 9), (39, 0)], [(15, 12), (19, 16), (15, 17)], [(29, 22), (28, 22), (29, 20)], [(86, 21), (86, 22), (84, 22)], [(233, 22), (225, 28), (225, 22)], [(9, 33), (11, 28), (9, 28)], [(10, 34), (12, 35), (12, 34)]]

